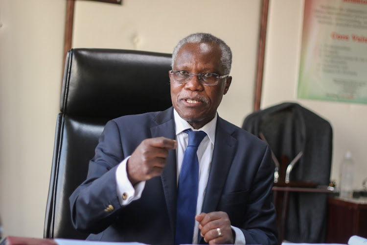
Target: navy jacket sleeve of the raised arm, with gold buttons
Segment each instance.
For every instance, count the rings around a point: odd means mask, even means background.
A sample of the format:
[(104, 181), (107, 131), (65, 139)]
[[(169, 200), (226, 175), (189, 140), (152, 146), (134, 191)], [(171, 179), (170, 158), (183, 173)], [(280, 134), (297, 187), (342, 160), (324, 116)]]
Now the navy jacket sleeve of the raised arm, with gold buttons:
[(118, 127), (110, 121), (89, 163), (87, 179), (69, 197), (75, 229), (99, 233), (117, 219), (122, 207), (116, 194), (115, 172), (123, 159)]

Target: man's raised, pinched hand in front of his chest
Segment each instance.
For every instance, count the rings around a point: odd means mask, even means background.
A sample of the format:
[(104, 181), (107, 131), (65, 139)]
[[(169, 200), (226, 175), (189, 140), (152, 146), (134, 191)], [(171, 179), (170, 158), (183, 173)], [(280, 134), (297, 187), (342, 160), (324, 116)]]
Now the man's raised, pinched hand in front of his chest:
[(166, 165), (168, 151), (176, 149), (177, 141), (158, 137), (143, 140), (127, 161), (127, 175), (136, 183), (159, 176)]

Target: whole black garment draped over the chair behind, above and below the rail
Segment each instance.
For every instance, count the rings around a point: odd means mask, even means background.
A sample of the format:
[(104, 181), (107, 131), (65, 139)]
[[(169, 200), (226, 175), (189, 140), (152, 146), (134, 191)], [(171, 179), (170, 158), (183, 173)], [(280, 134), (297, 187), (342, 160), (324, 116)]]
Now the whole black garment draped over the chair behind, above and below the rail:
[[(288, 172), (290, 182), (286, 186), (329, 184), (333, 133), (331, 124), (321, 116), (298, 103), (281, 103), (248, 115), (242, 128), (269, 143), (280, 163), (275, 185), (287, 184), (284, 177), (288, 169), (292, 172)], [(300, 152), (302, 155), (298, 159)], [(288, 168), (294, 159), (298, 161), (292, 169)], [(325, 243), (327, 194), (308, 190), (308, 193), (295, 189), (287, 192), (284, 195), (289, 196), (288, 202), (282, 207), (275, 201), (278, 228), (283, 229), (279, 231), (280, 242), (284, 238), (294, 243)], [(280, 210), (287, 210), (287, 213), (279, 215)]]

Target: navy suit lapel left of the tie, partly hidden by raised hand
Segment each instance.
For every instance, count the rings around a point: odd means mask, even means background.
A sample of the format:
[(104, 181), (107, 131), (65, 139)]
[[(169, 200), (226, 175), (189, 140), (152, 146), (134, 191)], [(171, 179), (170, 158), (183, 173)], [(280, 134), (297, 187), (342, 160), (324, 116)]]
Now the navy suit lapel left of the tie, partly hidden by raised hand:
[[(163, 136), (169, 139), (176, 139), (173, 107), (159, 113), (153, 121), (156, 124), (156, 126), (153, 126), (150, 129), (153, 138)], [(175, 230), (176, 223), (176, 166), (176, 150), (170, 150), (167, 157), (167, 165), (163, 169), (161, 180), (172, 231)]]

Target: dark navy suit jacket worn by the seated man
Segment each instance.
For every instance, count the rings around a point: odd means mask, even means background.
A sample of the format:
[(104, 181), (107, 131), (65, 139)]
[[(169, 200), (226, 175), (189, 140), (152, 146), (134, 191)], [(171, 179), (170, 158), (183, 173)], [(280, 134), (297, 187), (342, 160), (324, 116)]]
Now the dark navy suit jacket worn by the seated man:
[[(142, 140), (175, 139), (173, 107), (108, 122), (89, 165), (88, 177), (70, 196), (76, 229), (89, 240), (174, 244), (176, 153), (170, 150), (161, 176), (146, 181), (138, 200), (121, 207), (115, 170)], [(242, 230), (246, 244), (276, 245), (271, 201), (274, 166), (269, 147), (243, 129), (217, 119), (215, 144), (202, 212), (224, 211)], [(111, 212), (105, 209), (112, 205)], [(200, 234), (200, 233), (199, 233)], [(204, 239), (199, 236), (199, 243)]]

